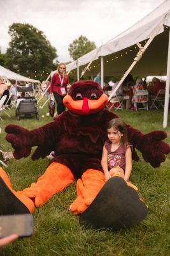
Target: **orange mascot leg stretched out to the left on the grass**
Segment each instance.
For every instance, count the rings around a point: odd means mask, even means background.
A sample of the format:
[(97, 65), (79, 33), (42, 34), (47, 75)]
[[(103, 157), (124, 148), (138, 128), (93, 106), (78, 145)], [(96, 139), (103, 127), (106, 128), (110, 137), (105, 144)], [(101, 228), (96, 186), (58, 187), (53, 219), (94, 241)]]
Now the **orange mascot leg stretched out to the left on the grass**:
[(69, 186), (74, 180), (73, 173), (67, 166), (59, 163), (52, 163), (45, 173), (39, 177), (37, 182), (31, 184), (30, 188), (25, 188), (20, 193), (34, 198), (35, 205), (45, 204), (53, 195)]

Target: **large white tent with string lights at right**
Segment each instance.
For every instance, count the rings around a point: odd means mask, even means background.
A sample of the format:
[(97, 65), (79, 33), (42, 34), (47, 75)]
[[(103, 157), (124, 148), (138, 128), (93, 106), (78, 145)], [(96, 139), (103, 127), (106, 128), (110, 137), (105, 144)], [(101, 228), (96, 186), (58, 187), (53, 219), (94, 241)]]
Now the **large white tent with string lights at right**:
[(74, 68), (77, 68), (79, 79), (79, 73), (96, 76), (101, 70), (102, 85), (104, 76), (123, 76), (125, 69), (128, 70), (121, 83), (131, 70), (133, 76), (167, 75), (163, 124), (166, 127), (170, 83), (169, 26), (170, 0), (166, 0), (131, 28), (69, 63), (67, 72), (76, 72)]

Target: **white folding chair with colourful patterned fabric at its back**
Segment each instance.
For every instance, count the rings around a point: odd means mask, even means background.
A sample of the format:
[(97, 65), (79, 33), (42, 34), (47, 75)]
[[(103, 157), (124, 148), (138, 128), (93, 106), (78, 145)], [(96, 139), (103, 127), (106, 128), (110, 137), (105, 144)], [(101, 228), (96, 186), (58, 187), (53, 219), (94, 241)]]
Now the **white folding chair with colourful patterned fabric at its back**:
[[(139, 90), (134, 93), (134, 108), (148, 110), (148, 90)], [(139, 97), (138, 97), (139, 96)], [(143, 107), (138, 107), (138, 104), (142, 104)]]

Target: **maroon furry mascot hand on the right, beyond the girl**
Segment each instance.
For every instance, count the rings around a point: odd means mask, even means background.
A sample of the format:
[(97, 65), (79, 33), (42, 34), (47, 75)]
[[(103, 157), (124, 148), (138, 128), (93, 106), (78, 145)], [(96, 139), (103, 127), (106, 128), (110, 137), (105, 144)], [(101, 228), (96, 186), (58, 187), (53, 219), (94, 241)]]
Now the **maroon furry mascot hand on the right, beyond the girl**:
[(154, 168), (159, 167), (160, 163), (166, 159), (165, 154), (169, 154), (170, 147), (163, 142), (167, 137), (164, 131), (153, 131), (145, 134), (139, 145), (139, 150), (146, 162), (149, 162)]

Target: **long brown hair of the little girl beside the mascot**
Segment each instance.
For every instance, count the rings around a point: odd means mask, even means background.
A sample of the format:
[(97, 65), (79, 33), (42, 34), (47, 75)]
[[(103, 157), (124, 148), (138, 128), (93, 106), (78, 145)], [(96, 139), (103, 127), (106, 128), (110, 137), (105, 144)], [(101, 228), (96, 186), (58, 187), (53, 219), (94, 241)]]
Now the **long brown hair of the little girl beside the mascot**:
[(121, 118), (113, 118), (108, 122), (108, 129), (115, 128), (117, 131), (121, 132), (123, 136), (121, 137), (121, 142), (125, 146), (127, 146), (127, 129), (124, 121)]

